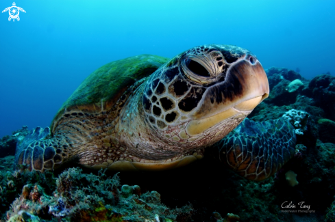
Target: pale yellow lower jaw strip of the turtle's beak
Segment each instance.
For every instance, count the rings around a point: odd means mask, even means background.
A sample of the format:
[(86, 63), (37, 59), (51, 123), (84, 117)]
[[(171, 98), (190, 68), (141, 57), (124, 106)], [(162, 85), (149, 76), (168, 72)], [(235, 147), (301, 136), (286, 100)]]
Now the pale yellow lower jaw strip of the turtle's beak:
[(260, 104), (260, 102), (262, 102), (262, 100), (268, 96), (269, 94), (257, 96), (244, 102), (240, 102), (238, 105), (230, 107), (229, 109), (226, 109), (225, 111), (216, 115), (205, 117), (201, 120), (192, 120), (186, 126), (186, 133), (190, 136), (196, 136), (208, 130), (209, 128), (212, 128), (216, 124), (228, 122), (232, 119), (244, 119), (258, 104)]

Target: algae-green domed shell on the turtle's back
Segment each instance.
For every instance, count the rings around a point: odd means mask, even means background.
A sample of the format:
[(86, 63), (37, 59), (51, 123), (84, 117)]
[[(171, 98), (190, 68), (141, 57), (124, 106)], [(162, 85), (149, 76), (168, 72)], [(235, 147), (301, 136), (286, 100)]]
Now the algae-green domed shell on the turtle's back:
[(82, 105), (101, 107), (101, 102), (108, 102), (108, 106), (114, 105), (114, 102), (130, 85), (148, 77), (166, 61), (169, 59), (158, 55), (138, 55), (112, 61), (98, 68), (64, 102), (53, 118), (52, 124), (64, 113), (65, 109), (69, 110)]

